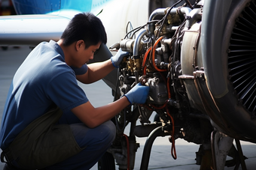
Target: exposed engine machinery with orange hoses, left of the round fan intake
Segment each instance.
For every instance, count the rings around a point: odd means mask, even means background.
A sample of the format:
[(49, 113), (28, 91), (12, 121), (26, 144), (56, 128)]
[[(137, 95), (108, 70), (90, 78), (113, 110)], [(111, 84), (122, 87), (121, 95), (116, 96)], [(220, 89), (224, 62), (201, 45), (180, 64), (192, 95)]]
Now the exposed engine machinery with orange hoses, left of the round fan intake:
[[(212, 126), (194, 83), (194, 72), (204, 74), (200, 61), (202, 5), (196, 4), (193, 10), (182, 6), (157, 8), (148, 23), (120, 41), (120, 48), (130, 52), (120, 65), (121, 95), (138, 82), (150, 87), (147, 103), (137, 106), (142, 127), (135, 128), (136, 136), (149, 135), (151, 127), (144, 125), (150, 123), (152, 112), (157, 112), (166, 131), (175, 132), (173, 139), (196, 144), (210, 142)], [(201, 126), (205, 126), (204, 130)]]

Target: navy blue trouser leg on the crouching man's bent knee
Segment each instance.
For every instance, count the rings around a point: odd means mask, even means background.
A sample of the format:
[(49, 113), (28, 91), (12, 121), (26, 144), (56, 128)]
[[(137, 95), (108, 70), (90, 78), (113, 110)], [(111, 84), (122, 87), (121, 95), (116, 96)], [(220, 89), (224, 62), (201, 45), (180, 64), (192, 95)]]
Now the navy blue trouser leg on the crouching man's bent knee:
[(47, 167), (47, 170), (86, 170), (92, 168), (108, 150), (116, 135), (116, 127), (112, 121), (107, 121), (99, 127), (90, 129), (81, 123), (72, 112), (64, 113), (59, 119), (59, 124), (70, 124), (76, 142), (81, 148), (85, 146), (86, 148), (61, 163)]

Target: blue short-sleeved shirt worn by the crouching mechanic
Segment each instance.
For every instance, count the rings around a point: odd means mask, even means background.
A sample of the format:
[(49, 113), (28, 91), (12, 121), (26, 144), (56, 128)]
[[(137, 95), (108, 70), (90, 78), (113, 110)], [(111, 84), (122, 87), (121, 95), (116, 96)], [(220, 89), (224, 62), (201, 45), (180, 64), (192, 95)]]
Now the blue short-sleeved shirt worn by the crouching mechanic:
[(86, 72), (87, 64), (69, 67), (61, 47), (53, 40), (36, 46), (15, 73), (8, 91), (0, 131), (2, 150), (53, 104), (69, 112), (87, 103), (75, 77)]

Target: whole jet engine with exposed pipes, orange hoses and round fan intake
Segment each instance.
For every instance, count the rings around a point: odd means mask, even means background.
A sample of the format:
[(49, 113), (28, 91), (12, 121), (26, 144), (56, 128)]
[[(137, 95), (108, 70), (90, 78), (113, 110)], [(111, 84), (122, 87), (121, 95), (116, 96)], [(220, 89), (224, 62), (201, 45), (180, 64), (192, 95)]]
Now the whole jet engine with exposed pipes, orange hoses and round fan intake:
[[(145, 104), (128, 106), (117, 116), (117, 133), (131, 122), (130, 140), (170, 136), (174, 159), (175, 139), (211, 150), (214, 130), (256, 142), (256, 3), (176, 1), (159, 8), (154, 3), (148, 22), (127, 32), (118, 45), (130, 52), (118, 71), (120, 96), (139, 82), (150, 93)], [(151, 123), (153, 112), (156, 122)], [(137, 119), (141, 125), (136, 126)], [(141, 169), (148, 167), (151, 145)]]

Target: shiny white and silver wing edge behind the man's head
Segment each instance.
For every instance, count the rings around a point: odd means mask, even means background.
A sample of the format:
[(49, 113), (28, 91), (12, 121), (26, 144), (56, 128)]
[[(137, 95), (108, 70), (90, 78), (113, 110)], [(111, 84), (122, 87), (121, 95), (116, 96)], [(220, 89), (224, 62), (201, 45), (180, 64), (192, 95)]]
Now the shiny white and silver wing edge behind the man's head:
[(53, 15), (0, 16), (0, 46), (36, 46), (59, 40), (70, 19)]

